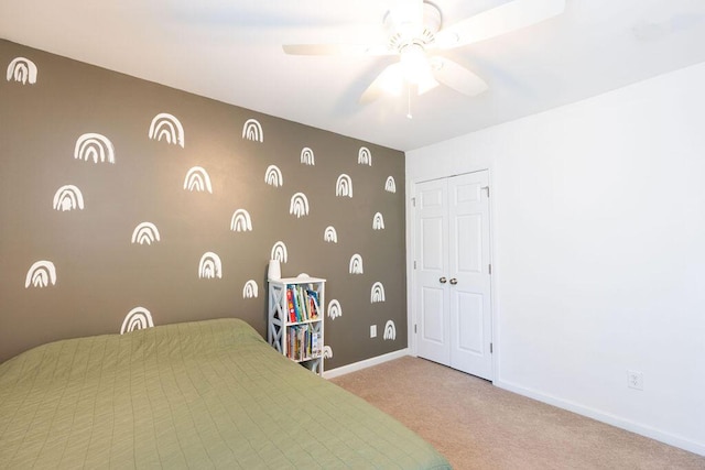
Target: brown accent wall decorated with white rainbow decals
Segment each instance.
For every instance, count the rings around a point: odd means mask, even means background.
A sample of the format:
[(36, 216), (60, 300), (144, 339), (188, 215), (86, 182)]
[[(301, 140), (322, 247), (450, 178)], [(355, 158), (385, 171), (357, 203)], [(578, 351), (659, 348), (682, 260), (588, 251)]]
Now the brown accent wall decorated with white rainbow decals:
[(0, 64), (0, 361), (149, 318), (264, 336), (273, 255), (328, 280), (327, 369), (406, 347), (401, 152), (7, 41)]

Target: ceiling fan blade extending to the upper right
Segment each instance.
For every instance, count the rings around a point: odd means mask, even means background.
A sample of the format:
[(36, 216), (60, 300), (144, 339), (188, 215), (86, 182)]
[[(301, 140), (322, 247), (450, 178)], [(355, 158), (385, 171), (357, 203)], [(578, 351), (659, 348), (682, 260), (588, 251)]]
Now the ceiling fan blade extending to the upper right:
[(440, 48), (496, 37), (563, 13), (565, 0), (513, 0), (462, 20), (436, 33)]

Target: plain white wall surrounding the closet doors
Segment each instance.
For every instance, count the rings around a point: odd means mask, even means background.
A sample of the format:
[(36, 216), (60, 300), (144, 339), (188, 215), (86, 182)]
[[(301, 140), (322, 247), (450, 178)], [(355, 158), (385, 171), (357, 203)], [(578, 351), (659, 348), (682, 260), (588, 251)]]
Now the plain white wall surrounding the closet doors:
[(705, 64), (408, 152), (408, 190), (485, 167), (495, 383), (705, 455)]

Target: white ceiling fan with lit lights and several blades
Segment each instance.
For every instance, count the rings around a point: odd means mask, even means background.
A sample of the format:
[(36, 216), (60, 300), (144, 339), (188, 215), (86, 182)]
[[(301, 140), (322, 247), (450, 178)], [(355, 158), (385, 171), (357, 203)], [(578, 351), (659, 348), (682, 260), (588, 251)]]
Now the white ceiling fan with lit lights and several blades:
[(473, 72), (434, 53), (496, 37), (561, 14), (565, 0), (512, 0), (445, 26), (441, 10), (426, 0), (395, 0), (382, 20), (388, 41), (381, 44), (288, 44), (292, 55), (398, 56), (365, 90), (361, 103), (384, 92), (414, 87), (422, 95), (440, 84), (467, 96), (488, 88)]

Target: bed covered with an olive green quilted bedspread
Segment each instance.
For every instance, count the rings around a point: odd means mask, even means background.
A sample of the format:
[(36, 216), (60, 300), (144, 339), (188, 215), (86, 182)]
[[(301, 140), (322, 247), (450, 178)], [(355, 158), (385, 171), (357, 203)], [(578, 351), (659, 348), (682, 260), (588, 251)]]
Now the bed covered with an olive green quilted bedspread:
[(56, 341), (0, 364), (0, 468), (451, 466), (228, 318)]

